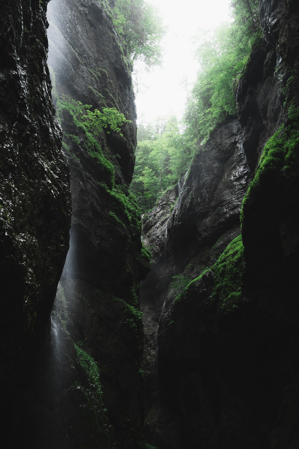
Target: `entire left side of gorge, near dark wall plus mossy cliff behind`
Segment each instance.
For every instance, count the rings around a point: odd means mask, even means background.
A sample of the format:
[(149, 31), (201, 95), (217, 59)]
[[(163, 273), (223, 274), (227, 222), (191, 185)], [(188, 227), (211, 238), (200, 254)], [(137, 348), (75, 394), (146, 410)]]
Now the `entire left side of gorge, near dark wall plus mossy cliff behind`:
[[(138, 293), (148, 258), (128, 193), (136, 145), (132, 67), (108, 4), (48, 4), (62, 151), (46, 62), (47, 4), (1, 4), (1, 349), (9, 447), (143, 448)], [(107, 128), (84, 125), (82, 115), (95, 109), (105, 119), (110, 114)]]

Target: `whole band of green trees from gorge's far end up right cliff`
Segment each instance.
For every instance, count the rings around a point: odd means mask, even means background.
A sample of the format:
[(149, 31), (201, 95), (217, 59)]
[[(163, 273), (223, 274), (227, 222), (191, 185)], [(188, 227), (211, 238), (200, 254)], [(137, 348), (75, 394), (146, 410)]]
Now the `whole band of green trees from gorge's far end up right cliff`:
[(198, 38), (201, 68), (188, 95), (184, 122), (171, 116), (139, 126), (131, 191), (143, 211), (178, 182), (217, 124), (236, 115), (234, 84), (261, 35), (258, 0), (232, 0), (231, 13), (231, 22), (214, 32), (205, 30)]

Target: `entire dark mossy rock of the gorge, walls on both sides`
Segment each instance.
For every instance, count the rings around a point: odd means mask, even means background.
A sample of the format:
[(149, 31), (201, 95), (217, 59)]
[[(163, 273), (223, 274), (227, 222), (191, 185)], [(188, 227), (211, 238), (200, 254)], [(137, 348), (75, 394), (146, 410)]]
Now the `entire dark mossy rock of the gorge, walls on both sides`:
[[(298, 447), (299, 7), (258, 3), (238, 117), (141, 224), (110, 7), (1, 1), (7, 447)], [(87, 124), (112, 108), (119, 132)]]

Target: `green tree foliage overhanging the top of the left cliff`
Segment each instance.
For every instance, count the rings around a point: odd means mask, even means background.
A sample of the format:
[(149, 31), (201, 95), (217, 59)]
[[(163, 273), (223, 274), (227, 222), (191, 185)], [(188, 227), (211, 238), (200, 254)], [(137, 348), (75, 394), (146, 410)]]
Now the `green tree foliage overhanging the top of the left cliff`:
[(160, 63), (164, 34), (158, 10), (144, 0), (114, 0), (113, 25), (131, 59), (148, 66)]

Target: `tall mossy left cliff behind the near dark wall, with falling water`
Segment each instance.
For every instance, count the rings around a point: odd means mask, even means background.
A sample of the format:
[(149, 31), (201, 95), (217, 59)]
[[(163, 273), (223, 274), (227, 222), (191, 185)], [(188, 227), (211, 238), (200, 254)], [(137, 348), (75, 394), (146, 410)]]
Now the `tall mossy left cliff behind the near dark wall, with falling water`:
[[(63, 440), (70, 449), (142, 448), (138, 294), (148, 262), (141, 255), (139, 210), (128, 193), (136, 145), (131, 66), (104, 2), (52, 0), (48, 21), (48, 63), (70, 161), (73, 215), (52, 314), (68, 343), (56, 360), (61, 377), (42, 418), (45, 447)], [(114, 107), (130, 122), (121, 133), (82, 128), (82, 113), (72, 109), (84, 108), (78, 101), (92, 110)]]

